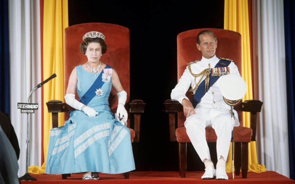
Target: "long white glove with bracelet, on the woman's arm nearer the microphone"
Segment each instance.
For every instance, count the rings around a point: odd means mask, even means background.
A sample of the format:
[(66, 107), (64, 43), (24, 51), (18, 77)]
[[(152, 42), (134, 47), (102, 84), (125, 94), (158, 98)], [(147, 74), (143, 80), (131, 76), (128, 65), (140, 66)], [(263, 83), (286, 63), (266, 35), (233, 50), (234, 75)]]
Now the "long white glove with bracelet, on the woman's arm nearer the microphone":
[(82, 104), (81, 102), (79, 102), (78, 100), (76, 100), (74, 94), (70, 94), (70, 93), (66, 94), (65, 102), (69, 104), (71, 107), (85, 112), (89, 117), (95, 117), (98, 114), (98, 112), (96, 112), (91, 107), (88, 107)]

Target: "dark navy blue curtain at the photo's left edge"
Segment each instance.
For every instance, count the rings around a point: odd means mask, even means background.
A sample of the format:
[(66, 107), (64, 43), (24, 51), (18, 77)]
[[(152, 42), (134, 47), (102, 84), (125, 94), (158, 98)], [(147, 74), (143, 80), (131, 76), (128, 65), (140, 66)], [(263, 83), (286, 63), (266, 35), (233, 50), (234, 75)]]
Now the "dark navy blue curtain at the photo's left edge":
[(8, 0), (0, 1), (0, 111), (10, 115)]

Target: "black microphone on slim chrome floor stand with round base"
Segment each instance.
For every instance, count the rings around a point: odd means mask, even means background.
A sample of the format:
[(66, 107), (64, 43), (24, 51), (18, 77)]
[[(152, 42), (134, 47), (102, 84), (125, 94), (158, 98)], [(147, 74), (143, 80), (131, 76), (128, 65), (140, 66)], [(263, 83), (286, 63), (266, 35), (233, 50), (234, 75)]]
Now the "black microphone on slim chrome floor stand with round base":
[[(41, 82), (40, 84), (38, 84), (36, 87), (34, 87), (28, 98), (27, 98), (27, 102), (29, 103), (29, 99), (31, 98), (32, 94), (39, 88), (41, 87), (43, 84), (45, 84), (46, 82), (48, 82), (49, 80), (53, 79), (54, 77), (56, 77), (56, 74), (51, 75), (48, 79), (46, 79), (45, 81)], [(33, 176), (31, 176), (29, 174), (28, 171), (29, 168), (29, 113), (27, 113), (27, 135), (26, 135), (26, 173), (19, 178), (20, 181), (36, 181), (37, 179), (34, 178)]]

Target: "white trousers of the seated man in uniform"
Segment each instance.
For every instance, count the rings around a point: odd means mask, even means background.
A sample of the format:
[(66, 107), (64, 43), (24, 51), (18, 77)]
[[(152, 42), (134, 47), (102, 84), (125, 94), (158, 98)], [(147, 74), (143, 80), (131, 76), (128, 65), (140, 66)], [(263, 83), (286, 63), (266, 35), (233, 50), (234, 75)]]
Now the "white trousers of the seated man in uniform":
[(217, 159), (223, 156), (226, 160), (230, 148), (231, 131), (234, 128), (234, 121), (231, 120), (229, 110), (197, 108), (195, 112), (187, 118), (184, 126), (200, 159), (202, 161), (211, 159), (205, 131), (206, 127), (211, 126), (217, 135)]

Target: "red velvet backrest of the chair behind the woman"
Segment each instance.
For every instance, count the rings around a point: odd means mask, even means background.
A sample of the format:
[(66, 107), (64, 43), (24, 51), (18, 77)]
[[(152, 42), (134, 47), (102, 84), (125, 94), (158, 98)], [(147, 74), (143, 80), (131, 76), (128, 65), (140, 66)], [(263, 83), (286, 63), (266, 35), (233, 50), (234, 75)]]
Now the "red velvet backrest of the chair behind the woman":
[[(87, 61), (87, 57), (80, 52), (80, 43), (84, 34), (89, 31), (99, 31), (104, 34), (107, 52), (103, 54), (100, 60), (116, 70), (120, 82), (127, 92), (126, 103), (129, 102), (130, 32), (128, 28), (115, 24), (86, 23), (72, 25), (65, 29), (65, 93), (73, 68)], [(118, 105), (118, 98), (114, 89), (111, 91), (109, 104), (111, 110), (115, 112)], [(65, 119), (68, 119), (68, 117), (65, 117)]]

